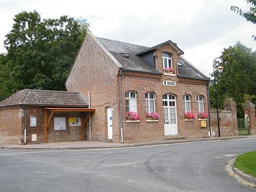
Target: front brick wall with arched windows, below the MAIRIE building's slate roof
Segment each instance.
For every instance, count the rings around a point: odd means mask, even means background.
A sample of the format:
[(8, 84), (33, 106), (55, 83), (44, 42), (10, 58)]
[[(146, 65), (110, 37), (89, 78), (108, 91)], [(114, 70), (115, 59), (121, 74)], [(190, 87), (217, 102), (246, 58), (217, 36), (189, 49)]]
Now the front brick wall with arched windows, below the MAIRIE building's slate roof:
[[(133, 76), (132, 76), (133, 75)], [(134, 76), (138, 75), (138, 76)], [(163, 86), (163, 80), (172, 78), (176, 81), (176, 87)], [(145, 80), (148, 79), (148, 80)], [(154, 80), (156, 82), (156, 112), (160, 114), (158, 122), (146, 122), (145, 112), (145, 93), (154, 91)], [(125, 119), (125, 92), (136, 91), (137, 93), (137, 112), (140, 115), (140, 122), (126, 123)], [(141, 91), (142, 90), (142, 91)], [(194, 121), (184, 121), (183, 94), (191, 95), (191, 112), (196, 114)], [(201, 127), (201, 121), (197, 117), (197, 95), (203, 95), (205, 98), (204, 111), (208, 112), (206, 83), (197, 80), (179, 79), (173, 76), (165, 75), (146, 75), (139, 73), (123, 73), (122, 76), (122, 114), (123, 114), (123, 132), (125, 142), (138, 142), (147, 140), (161, 140), (164, 137), (163, 122), (163, 104), (162, 95), (173, 94), (176, 96), (177, 104), (177, 122), (178, 136), (187, 138), (208, 136), (209, 127)]]

